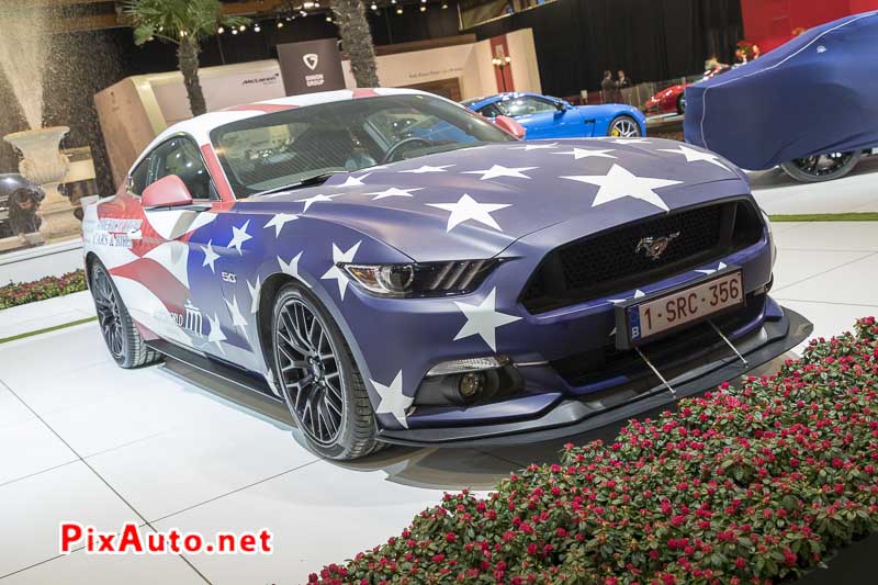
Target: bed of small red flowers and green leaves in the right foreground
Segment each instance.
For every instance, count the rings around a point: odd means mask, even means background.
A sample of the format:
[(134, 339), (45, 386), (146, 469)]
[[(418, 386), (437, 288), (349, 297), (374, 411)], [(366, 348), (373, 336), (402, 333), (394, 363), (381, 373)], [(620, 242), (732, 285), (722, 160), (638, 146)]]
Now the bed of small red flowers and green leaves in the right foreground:
[(878, 527), (878, 326), (464, 491), (323, 583), (774, 583)]

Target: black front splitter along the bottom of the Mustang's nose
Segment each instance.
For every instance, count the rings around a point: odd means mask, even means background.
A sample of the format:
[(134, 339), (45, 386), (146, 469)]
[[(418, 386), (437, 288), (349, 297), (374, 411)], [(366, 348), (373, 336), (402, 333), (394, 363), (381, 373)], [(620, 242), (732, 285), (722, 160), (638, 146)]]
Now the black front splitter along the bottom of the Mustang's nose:
[(673, 394), (664, 384), (657, 384), (635, 398), (598, 412), (582, 398), (565, 398), (538, 418), (469, 427), (381, 430), (379, 439), (412, 447), (491, 447), (549, 441), (588, 432), (716, 389), (786, 353), (804, 341), (812, 330), (811, 322), (795, 311), (784, 308), (780, 319), (766, 320), (762, 328), (748, 336), (748, 341), (739, 347), (746, 358), (746, 364), (736, 356), (702, 364), (698, 369), (705, 370), (703, 375), (691, 378), (684, 374), (679, 378), (686, 381), (679, 384), (669, 380)]

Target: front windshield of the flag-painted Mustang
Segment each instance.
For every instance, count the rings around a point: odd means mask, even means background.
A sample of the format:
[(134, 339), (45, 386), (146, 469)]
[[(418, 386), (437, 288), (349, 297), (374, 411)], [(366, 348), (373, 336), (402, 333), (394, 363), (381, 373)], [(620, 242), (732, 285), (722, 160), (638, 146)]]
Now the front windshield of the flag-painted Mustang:
[(457, 104), (421, 94), (308, 105), (211, 132), (238, 199), (331, 172), (514, 139)]

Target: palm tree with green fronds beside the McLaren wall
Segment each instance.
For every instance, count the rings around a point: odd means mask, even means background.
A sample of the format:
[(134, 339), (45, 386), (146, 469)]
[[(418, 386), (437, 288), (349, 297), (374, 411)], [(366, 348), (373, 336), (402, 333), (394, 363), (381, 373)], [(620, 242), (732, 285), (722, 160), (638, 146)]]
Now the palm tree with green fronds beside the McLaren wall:
[(127, 0), (125, 13), (134, 25), (134, 43), (159, 38), (177, 45), (177, 61), (183, 74), (192, 115), (207, 111), (199, 81), (201, 42), (219, 26), (244, 26), (248, 19), (226, 16), (219, 0)]

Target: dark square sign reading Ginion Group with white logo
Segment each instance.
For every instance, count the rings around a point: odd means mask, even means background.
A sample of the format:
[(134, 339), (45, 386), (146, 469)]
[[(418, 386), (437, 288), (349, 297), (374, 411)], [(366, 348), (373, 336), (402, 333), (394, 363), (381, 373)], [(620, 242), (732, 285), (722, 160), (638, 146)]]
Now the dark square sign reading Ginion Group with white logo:
[(278, 57), (288, 95), (345, 89), (335, 38), (278, 45)]

